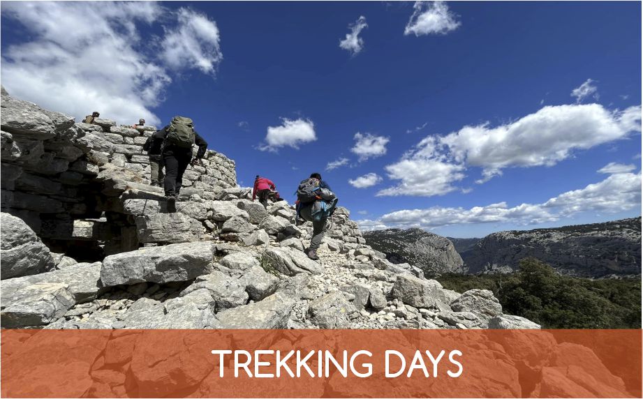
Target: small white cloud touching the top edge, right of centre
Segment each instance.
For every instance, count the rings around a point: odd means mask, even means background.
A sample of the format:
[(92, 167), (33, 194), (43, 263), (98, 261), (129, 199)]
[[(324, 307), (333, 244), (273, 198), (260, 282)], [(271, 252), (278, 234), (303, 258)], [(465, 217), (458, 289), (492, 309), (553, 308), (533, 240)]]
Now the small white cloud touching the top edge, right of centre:
[(444, 1), (415, 1), (413, 15), (408, 20), (405, 35), (445, 35), (460, 26)]

